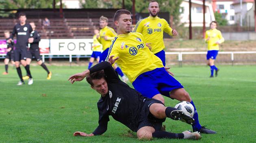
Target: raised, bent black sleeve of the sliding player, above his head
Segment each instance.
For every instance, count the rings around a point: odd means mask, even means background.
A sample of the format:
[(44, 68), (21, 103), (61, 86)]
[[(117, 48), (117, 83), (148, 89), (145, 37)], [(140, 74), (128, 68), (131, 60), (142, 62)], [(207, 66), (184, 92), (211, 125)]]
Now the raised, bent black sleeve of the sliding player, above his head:
[(119, 82), (120, 81), (120, 78), (116, 74), (115, 69), (107, 61), (103, 61), (101, 63), (98, 63), (97, 65), (94, 65), (93, 67), (91, 67), (89, 69), (89, 71), (90, 71), (90, 74), (92, 74), (92, 73), (94, 73), (96, 71), (100, 71), (102, 69), (104, 70), (104, 73), (106, 75), (106, 80), (108, 82)]

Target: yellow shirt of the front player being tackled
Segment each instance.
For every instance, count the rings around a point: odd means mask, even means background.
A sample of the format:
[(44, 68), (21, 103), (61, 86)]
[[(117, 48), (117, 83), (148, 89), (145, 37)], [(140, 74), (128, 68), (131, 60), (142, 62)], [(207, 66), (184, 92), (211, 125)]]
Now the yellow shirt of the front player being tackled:
[(161, 59), (156, 57), (145, 44), (143, 35), (137, 32), (120, 34), (113, 40), (108, 51), (108, 58), (114, 55), (119, 57), (116, 63), (133, 82), (139, 75), (164, 67)]

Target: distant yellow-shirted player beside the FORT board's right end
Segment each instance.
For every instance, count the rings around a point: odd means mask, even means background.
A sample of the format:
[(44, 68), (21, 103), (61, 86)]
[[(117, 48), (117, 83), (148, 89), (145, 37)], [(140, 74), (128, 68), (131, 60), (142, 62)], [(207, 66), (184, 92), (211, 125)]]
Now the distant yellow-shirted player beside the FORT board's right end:
[(88, 69), (91, 68), (91, 66), (93, 65), (94, 59), (96, 59), (98, 63), (100, 62), (102, 44), (100, 44), (100, 42), (97, 40), (97, 35), (99, 35), (99, 29), (94, 29), (93, 45), (91, 47), (91, 50), (93, 51), (93, 53), (91, 54)]

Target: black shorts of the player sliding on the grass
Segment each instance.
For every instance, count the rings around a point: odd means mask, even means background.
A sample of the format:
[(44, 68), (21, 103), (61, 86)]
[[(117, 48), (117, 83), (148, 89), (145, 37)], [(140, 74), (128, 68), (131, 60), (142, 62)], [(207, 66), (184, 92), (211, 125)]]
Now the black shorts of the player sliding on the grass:
[(156, 100), (156, 99), (146, 99), (146, 101), (141, 109), (141, 114), (139, 117), (139, 126), (137, 128), (137, 131), (144, 126), (152, 126), (153, 128), (155, 128), (156, 131), (161, 130), (162, 124), (163, 124), (163, 122), (165, 122), (166, 118), (158, 119), (158, 118), (155, 118), (150, 113), (150, 106), (153, 103), (163, 104), (161, 101)]

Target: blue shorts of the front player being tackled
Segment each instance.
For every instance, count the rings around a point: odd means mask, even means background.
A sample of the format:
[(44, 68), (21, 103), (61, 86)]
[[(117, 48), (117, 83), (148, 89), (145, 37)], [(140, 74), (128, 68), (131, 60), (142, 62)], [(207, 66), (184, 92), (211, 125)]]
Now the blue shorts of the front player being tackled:
[(165, 68), (156, 68), (139, 75), (132, 82), (135, 90), (139, 91), (144, 97), (152, 98), (157, 94), (170, 97), (171, 90), (183, 88), (175, 78), (165, 71)]

